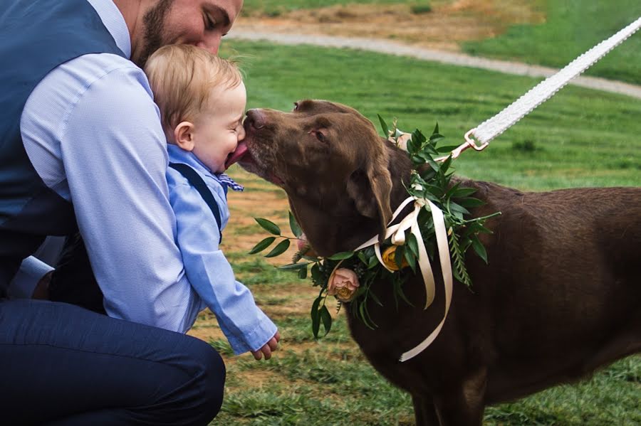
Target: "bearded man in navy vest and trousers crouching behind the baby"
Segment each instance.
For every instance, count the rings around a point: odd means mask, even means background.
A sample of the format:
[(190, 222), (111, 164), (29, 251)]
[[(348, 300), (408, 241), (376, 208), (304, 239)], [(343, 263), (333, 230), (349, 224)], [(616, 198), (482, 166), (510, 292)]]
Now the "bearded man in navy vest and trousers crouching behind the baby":
[(0, 297), (12, 281), (46, 280), (47, 267), (21, 260), (46, 235), (79, 229), (109, 316), (1, 299), (3, 422), (206, 425), (224, 364), (182, 334), (200, 305), (174, 243), (165, 136), (140, 68), (170, 43), (216, 53), (242, 0), (4, 3)]

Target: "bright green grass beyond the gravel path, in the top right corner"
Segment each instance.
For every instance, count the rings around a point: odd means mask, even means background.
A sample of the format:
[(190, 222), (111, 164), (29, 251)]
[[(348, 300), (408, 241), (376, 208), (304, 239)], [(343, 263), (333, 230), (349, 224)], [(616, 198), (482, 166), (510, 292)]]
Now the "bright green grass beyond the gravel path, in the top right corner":
[[(639, 0), (535, 0), (546, 21), (512, 26), (496, 38), (463, 43), (467, 53), (561, 68), (641, 16)], [(641, 33), (586, 75), (641, 84)]]

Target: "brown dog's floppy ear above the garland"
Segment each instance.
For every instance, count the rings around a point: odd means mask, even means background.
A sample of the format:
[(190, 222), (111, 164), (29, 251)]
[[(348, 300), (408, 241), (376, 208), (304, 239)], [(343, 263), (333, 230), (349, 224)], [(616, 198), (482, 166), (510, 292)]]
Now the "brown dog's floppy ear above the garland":
[(358, 212), (368, 218), (378, 218), (378, 239), (385, 240), (387, 223), (392, 218), (390, 193), (392, 178), (387, 169), (387, 151), (370, 156), (364, 169), (358, 169), (348, 179), (347, 192)]

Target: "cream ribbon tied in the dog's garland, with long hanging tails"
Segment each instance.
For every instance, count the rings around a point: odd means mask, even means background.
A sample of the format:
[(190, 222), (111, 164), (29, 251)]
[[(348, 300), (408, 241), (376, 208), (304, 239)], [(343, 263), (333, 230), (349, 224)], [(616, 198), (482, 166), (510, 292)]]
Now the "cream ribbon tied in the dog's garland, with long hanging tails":
[[(445, 324), (447, 312), (449, 311), (449, 305), (452, 303), (452, 263), (449, 259), (447, 230), (445, 228), (445, 219), (443, 217), (443, 212), (440, 211), (440, 209), (436, 205), (434, 205), (432, 201), (426, 200), (424, 198), (416, 198), (414, 196), (410, 196), (406, 198), (405, 201), (400, 204), (400, 206), (398, 206), (398, 208), (392, 215), (392, 220), (390, 220), (390, 223), (392, 223), (403, 210), (403, 208), (405, 208), (412, 201), (414, 201), (414, 210), (410, 214), (405, 216), (405, 218), (403, 218), (400, 223), (391, 226), (388, 223), (387, 230), (385, 230), (385, 238), (392, 237), (392, 244), (403, 245), (405, 244), (405, 231), (407, 229), (410, 229), (410, 232), (416, 237), (419, 247), (419, 269), (421, 270), (421, 275), (425, 284), (425, 293), (427, 294), (424, 309), (427, 309), (427, 307), (429, 307), (429, 305), (434, 302), (434, 293), (436, 286), (434, 282), (434, 273), (432, 272), (432, 265), (430, 265), (429, 263), (427, 249), (425, 248), (425, 243), (419, 229), (417, 218), (421, 209), (429, 206), (429, 210), (432, 212), (432, 219), (434, 220), (434, 232), (437, 236), (439, 260), (441, 261), (441, 272), (443, 274), (443, 283), (445, 287), (445, 312), (443, 314), (443, 319), (441, 320), (439, 325), (432, 331), (432, 333), (427, 336), (427, 339), (422, 341), (414, 348), (410, 349), (410, 351), (407, 351), (400, 356), (401, 362), (407, 361), (410, 358), (414, 358), (419, 353), (424, 351), (427, 346), (432, 344), (432, 341), (437, 338), (439, 332), (443, 328), (443, 324)], [(383, 267), (385, 267), (385, 269), (387, 269), (388, 271), (394, 272), (390, 270), (390, 268), (388, 268), (382, 261), (378, 235), (375, 235), (374, 237), (370, 238), (370, 240), (359, 245), (355, 250), (361, 250), (365, 247), (370, 247), (370, 245), (374, 245), (374, 251), (380, 264), (383, 265)]]

